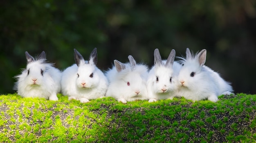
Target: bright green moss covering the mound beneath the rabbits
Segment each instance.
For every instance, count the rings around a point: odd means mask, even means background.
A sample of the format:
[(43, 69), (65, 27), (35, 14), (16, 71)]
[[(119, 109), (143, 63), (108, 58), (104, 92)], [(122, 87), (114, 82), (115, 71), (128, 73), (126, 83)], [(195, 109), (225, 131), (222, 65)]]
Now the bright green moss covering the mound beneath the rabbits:
[(256, 95), (82, 104), (0, 95), (0, 142), (256, 142)]

